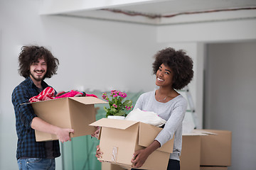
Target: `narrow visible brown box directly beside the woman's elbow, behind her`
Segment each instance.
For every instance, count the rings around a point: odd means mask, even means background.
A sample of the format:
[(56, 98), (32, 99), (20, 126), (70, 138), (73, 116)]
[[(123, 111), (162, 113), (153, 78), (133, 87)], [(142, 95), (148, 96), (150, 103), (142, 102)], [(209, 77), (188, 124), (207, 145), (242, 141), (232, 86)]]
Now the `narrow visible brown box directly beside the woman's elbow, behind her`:
[(199, 170), (201, 156), (201, 134), (182, 135), (181, 170)]

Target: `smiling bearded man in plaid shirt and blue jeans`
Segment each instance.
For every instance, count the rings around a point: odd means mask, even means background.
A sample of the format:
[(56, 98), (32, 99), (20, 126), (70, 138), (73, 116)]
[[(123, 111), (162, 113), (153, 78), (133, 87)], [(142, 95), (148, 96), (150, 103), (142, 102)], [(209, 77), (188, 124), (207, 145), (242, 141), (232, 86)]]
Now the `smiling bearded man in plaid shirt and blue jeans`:
[[(70, 141), (73, 129), (46, 123), (34, 113), (29, 98), (48, 87), (43, 79), (56, 74), (58, 59), (45, 47), (23, 46), (18, 56), (19, 74), (25, 78), (12, 93), (18, 136), (16, 158), (19, 169), (55, 169), (55, 157), (60, 157), (60, 142)], [(58, 140), (36, 142), (35, 130), (57, 135)]]

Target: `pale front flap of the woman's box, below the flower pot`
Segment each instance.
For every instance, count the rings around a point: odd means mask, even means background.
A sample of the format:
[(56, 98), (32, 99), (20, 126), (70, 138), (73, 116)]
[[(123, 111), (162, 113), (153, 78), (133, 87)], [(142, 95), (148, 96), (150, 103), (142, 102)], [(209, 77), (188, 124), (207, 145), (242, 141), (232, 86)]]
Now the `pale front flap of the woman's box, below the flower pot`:
[(138, 122), (132, 121), (132, 120), (118, 120), (118, 119), (111, 119), (111, 118), (102, 118), (100, 120), (97, 120), (94, 123), (91, 123), (90, 125), (125, 130), (125, 129), (131, 127), (132, 125), (135, 125), (136, 123), (138, 123)]

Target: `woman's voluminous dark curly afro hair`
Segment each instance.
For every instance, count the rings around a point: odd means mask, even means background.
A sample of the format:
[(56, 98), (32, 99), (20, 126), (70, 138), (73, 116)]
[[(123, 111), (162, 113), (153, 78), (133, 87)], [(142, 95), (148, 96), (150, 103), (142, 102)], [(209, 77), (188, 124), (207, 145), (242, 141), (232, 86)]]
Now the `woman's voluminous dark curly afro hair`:
[(153, 65), (153, 73), (164, 64), (170, 67), (174, 72), (172, 88), (180, 90), (188, 85), (193, 78), (193, 60), (186, 55), (183, 50), (174, 50), (174, 48), (166, 48), (156, 53)]

